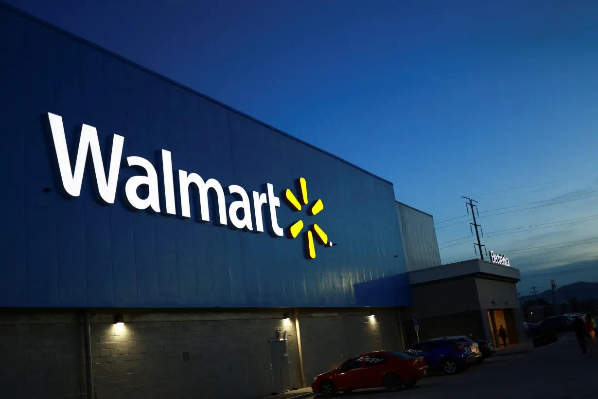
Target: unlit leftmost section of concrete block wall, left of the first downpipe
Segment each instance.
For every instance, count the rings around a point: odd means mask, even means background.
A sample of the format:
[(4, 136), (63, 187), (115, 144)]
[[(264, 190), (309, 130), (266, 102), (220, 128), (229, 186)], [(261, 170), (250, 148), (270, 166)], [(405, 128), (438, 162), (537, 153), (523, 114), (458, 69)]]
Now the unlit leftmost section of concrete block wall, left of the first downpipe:
[(74, 314), (0, 311), (0, 397), (84, 398), (82, 328)]

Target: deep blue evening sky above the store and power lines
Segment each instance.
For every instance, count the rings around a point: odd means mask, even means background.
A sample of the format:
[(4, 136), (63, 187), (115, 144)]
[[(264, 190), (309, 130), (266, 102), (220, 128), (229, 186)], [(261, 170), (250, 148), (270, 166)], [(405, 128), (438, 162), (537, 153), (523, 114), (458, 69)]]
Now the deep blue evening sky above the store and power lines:
[[(437, 222), (477, 199), (487, 249), (542, 275), (521, 291), (598, 281), (598, 220), (492, 233), (598, 216), (597, 2), (8, 3), (389, 179)], [(466, 219), (438, 224), (463, 222), (437, 230), (444, 262), (474, 255), (453, 241)]]

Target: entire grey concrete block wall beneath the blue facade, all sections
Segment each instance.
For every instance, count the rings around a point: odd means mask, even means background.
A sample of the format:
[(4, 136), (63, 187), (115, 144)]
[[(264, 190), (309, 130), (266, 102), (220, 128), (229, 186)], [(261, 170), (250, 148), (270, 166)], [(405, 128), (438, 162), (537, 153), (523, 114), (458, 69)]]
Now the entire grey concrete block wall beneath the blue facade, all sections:
[[(300, 310), (306, 385), (359, 352), (400, 349), (394, 309)], [(292, 386), (301, 365), (291, 309), (97, 310), (91, 313), (96, 399), (259, 398), (273, 391), (269, 339), (287, 331)], [(115, 324), (123, 313), (124, 325)], [(320, 316), (314, 316), (319, 314)], [(83, 316), (0, 310), (0, 397), (86, 397)], [(185, 353), (185, 358), (184, 358)], [(187, 358), (188, 360), (185, 360)]]

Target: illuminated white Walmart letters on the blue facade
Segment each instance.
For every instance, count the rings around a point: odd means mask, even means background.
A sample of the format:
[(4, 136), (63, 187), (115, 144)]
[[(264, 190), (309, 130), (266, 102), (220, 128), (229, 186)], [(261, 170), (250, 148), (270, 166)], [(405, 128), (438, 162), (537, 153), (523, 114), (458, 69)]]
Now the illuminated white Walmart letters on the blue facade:
[[(75, 172), (73, 173), (71, 159), (66, 145), (62, 117), (48, 112), (48, 120), (50, 121), (50, 129), (54, 141), (54, 149), (56, 150), (60, 178), (66, 194), (71, 197), (80, 196), (87, 152), (88, 150), (91, 150), (91, 160), (93, 162), (99, 196), (103, 202), (114, 203), (118, 172), (120, 171), (120, 161), (123, 154), (124, 137), (119, 135), (112, 136), (112, 150), (108, 167), (108, 178), (106, 178), (102, 151), (100, 150), (99, 140), (97, 138), (97, 130), (93, 126), (84, 124), (81, 127), (81, 138), (79, 141), (77, 159), (75, 159)], [(164, 205), (166, 205), (165, 213), (176, 215), (172, 157), (170, 151), (161, 150), (161, 154), (165, 196)], [(147, 209), (152, 212), (160, 212), (158, 173), (152, 163), (145, 158), (131, 156), (127, 157), (127, 165), (129, 165), (129, 167), (135, 167), (144, 173), (138, 176), (132, 176), (125, 184), (124, 191), (129, 206), (133, 209)], [(197, 173), (187, 173), (185, 170), (178, 170), (178, 178), (179, 195), (181, 197), (180, 216), (182, 218), (191, 217), (190, 188), (195, 188), (199, 193), (200, 219), (205, 222), (210, 221), (208, 191), (212, 190), (212, 193), (216, 195), (218, 209), (215, 210), (215, 213), (218, 215), (218, 224), (221, 226), (227, 226), (228, 219), (230, 218), (231, 224), (237, 229), (254, 230), (251, 218), (251, 211), (253, 209), (255, 215), (255, 230), (263, 233), (264, 222), (262, 217), (262, 206), (267, 203), (270, 210), (272, 232), (279, 237), (284, 235), (283, 229), (278, 226), (276, 208), (280, 207), (280, 199), (274, 196), (273, 185), (267, 184), (267, 193), (252, 192), (254, 202), (253, 207), (251, 206), (249, 196), (243, 187), (234, 184), (229, 185), (228, 192), (236, 196), (237, 200), (230, 204), (227, 215), (224, 190), (222, 189), (222, 185), (216, 179), (208, 179), (204, 181), (204, 179)], [(148, 189), (149, 194), (147, 198), (140, 198), (138, 196), (138, 188), (142, 186), (147, 187)], [(240, 210), (243, 211), (242, 218), (239, 217)]]

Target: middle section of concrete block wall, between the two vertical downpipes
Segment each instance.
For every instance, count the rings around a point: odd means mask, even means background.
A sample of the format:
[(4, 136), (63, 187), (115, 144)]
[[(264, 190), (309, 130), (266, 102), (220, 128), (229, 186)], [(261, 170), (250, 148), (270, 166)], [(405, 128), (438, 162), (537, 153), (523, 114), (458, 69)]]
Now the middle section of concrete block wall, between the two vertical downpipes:
[(268, 339), (277, 328), (287, 331), (293, 385), (300, 386), (295, 324), (282, 315), (278, 310), (125, 314), (122, 327), (98, 315), (91, 326), (97, 399), (270, 394)]

